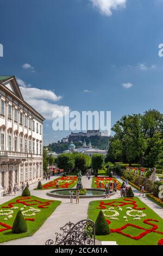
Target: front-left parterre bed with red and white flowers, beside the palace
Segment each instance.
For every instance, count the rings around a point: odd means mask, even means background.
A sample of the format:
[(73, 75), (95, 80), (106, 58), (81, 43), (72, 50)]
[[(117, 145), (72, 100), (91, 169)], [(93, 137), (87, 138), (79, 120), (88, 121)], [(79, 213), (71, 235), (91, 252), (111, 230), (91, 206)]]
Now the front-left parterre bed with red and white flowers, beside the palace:
[[(33, 235), (60, 203), (60, 201), (30, 196), (16, 197), (0, 205), (0, 242)], [(22, 234), (13, 234), (11, 233), (12, 224), (19, 210), (22, 211), (24, 219), (27, 221), (28, 231)]]

